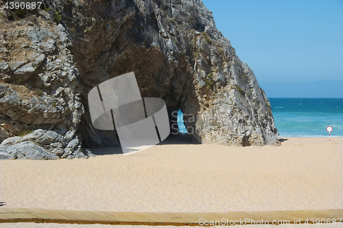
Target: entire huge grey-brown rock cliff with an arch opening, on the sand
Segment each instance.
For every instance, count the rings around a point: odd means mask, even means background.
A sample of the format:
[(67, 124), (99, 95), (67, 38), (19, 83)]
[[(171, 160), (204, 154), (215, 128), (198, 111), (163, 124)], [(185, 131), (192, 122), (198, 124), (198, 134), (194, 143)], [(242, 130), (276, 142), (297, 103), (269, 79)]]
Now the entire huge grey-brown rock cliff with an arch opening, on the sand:
[(0, 8), (0, 159), (119, 146), (115, 131), (93, 128), (87, 94), (130, 71), (142, 97), (163, 98), (170, 114), (181, 109), (198, 143), (279, 144), (268, 98), (202, 1), (47, 0), (41, 8)]

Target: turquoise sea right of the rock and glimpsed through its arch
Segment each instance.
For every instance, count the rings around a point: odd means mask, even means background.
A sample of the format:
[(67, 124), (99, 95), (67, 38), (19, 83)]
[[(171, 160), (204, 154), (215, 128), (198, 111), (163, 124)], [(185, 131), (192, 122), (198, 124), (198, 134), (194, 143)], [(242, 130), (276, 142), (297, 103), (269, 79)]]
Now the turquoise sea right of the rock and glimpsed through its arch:
[[(280, 137), (343, 137), (343, 98), (269, 98)], [(180, 133), (187, 133), (178, 111)]]

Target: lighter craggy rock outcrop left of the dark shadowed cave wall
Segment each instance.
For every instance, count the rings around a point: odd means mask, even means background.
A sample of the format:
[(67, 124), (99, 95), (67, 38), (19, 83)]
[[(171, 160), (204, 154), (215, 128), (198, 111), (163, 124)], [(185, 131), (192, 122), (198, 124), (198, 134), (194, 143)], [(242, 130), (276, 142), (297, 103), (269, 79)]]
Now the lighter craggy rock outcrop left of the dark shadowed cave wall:
[(38, 13), (17, 14), (0, 13), (0, 159), (87, 157), (68, 32)]

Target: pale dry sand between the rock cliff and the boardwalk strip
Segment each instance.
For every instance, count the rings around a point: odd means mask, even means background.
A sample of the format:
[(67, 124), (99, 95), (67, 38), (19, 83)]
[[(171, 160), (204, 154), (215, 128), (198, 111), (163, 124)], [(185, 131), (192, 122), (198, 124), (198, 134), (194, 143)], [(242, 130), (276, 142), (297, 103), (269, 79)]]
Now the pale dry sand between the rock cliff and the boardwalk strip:
[(343, 208), (343, 138), (331, 144), (287, 138), (282, 146), (248, 147), (182, 140), (129, 156), (95, 150), (105, 155), (2, 160), (0, 206), (129, 212)]

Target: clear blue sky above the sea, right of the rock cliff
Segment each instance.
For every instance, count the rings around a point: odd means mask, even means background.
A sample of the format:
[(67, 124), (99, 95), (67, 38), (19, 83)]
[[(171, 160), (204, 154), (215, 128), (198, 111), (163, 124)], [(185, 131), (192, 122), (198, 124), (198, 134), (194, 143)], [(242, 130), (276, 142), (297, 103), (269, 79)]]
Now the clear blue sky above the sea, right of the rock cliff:
[(343, 0), (202, 0), (269, 98), (343, 98)]

